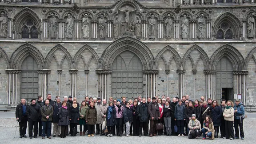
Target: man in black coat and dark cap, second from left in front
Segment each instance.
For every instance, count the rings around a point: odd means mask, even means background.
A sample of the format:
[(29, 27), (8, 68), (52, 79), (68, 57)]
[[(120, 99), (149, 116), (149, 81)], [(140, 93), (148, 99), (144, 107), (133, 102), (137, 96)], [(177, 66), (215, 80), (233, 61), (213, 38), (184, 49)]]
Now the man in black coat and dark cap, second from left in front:
[(31, 104), (27, 108), (27, 116), (28, 116), (28, 135), (29, 138), (33, 137), (33, 127), (34, 127), (34, 138), (37, 138), (38, 132), (38, 117), (40, 112), (40, 105), (36, 104), (36, 99), (31, 100)]

